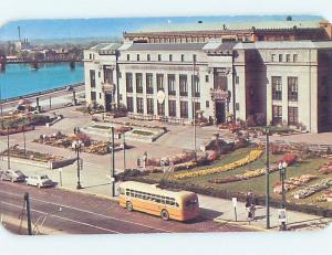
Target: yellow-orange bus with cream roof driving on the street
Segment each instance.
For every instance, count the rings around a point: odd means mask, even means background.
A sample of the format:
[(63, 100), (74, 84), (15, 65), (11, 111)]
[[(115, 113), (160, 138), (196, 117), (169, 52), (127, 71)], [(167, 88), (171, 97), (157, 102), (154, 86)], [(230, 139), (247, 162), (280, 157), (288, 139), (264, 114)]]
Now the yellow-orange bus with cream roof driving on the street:
[(189, 191), (162, 189), (158, 184), (136, 181), (122, 182), (120, 205), (128, 211), (159, 215), (164, 221), (188, 221), (199, 215), (197, 194)]

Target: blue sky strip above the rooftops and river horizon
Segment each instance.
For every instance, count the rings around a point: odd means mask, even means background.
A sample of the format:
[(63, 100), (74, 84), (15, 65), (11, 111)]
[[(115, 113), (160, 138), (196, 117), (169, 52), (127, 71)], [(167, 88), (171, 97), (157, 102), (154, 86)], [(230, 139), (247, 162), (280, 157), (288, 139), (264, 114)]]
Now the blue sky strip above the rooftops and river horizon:
[[(144, 28), (163, 28), (165, 25), (178, 25), (183, 23), (255, 22), (284, 21), (283, 15), (212, 15), (212, 17), (163, 17), (163, 18), (104, 18), (104, 19), (33, 19), (10, 21), (0, 28), (0, 41), (18, 40), (18, 28), (22, 39), (33, 40), (61, 40), (66, 41), (79, 38), (123, 38), (123, 32), (139, 31)], [(320, 21), (318, 15), (292, 15), (293, 21)], [(253, 22), (253, 23), (252, 23)]]

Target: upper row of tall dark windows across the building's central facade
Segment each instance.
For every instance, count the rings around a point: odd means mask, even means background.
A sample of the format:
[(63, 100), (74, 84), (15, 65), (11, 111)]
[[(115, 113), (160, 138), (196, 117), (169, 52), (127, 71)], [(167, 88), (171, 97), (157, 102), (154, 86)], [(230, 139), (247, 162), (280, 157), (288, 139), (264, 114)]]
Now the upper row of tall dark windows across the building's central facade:
[[(208, 76), (207, 76), (208, 77)], [(167, 75), (167, 88), (168, 95), (176, 95), (176, 75), (168, 74)], [(188, 96), (188, 77), (185, 74), (179, 75), (179, 95), (180, 96)], [(191, 75), (193, 81), (193, 75)], [(156, 75), (157, 82), (157, 91), (165, 91), (164, 89), (164, 74)], [(135, 74), (135, 84), (136, 84), (136, 93), (143, 93), (143, 74), (136, 73)], [(133, 93), (133, 73), (126, 73), (126, 92)], [(154, 86), (153, 86), (153, 74), (146, 74), (146, 94), (154, 94)], [(195, 97), (200, 96), (200, 85), (199, 85), (199, 76), (194, 76), (194, 88), (191, 89), (191, 95)]]

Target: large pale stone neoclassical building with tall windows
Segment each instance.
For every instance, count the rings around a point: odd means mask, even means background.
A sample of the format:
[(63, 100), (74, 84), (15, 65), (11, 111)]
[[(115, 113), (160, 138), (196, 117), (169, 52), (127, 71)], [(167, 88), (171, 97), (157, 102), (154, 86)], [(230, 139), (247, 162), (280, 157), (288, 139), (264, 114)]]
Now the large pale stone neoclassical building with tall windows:
[[(325, 28), (323, 29), (325, 31)], [(322, 31), (322, 29), (319, 29)], [(106, 111), (216, 124), (228, 116), (262, 124), (332, 129), (332, 42), (289, 41), (103, 43), (84, 52), (87, 104)]]

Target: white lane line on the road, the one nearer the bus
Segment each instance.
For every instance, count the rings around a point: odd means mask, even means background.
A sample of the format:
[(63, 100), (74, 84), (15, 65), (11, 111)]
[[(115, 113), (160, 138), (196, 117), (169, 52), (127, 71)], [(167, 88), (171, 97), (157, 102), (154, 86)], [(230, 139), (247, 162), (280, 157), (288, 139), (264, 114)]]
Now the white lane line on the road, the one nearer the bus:
[[(17, 194), (17, 193), (12, 193), (12, 192), (0, 191), (0, 193), (22, 198), (21, 194)], [(75, 211), (79, 211), (79, 212), (90, 213), (90, 214), (101, 216), (101, 217), (105, 217), (105, 219), (110, 219), (110, 220), (121, 221), (121, 222), (125, 222), (125, 223), (129, 223), (129, 224), (134, 224), (134, 225), (139, 225), (139, 226), (143, 226), (143, 227), (157, 230), (157, 231), (160, 231), (160, 232), (174, 233), (174, 232), (165, 230), (165, 229), (155, 227), (155, 226), (151, 226), (151, 225), (146, 225), (146, 224), (143, 224), (143, 223), (137, 223), (137, 222), (133, 222), (133, 221), (128, 221), (128, 220), (123, 220), (123, 219), (118, 219), (118, 217), (115, 217), (115, 216), (108, 216), (108, 215), (104, 215), (104, 214), (101, 214), (101, 213), (95, 213), (95, 212), (91, 212), (91, 211), (87, 211), (87, 210), (77, 209), (77, 208), (74, 208), (74, 206), (69, 206), (69, 205), (64, 205), (64, 204), (60, 204), (60, 203), (48, 202), (48, 201), (44, 201), (44, 200), (34, 199), (34, 198), (30, 198), (30, 200), (38, 201), (38, 202), (41, 202), (41, 203), (46, 203), (46, 204), (53, 204), (53, 205), (56, 205), (59, 208), (66, 208), (66, 209), (75, 210)]]

